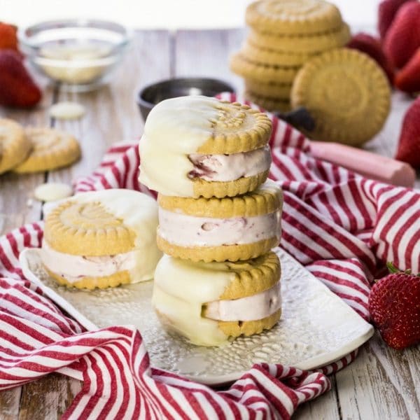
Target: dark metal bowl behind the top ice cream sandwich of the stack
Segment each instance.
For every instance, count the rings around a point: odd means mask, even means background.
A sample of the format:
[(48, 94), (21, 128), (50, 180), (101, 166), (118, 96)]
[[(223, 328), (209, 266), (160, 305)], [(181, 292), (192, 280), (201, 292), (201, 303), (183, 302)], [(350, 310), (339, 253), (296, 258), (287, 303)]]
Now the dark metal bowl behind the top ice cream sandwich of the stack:
[(235, 92), (235, 90), (228, 83), (213, 78), (172, 78), (143, 87), (139, 92), (137, 105), (141, 116), (146, 121), (148, 113), (153, 106), (164, 99), (188, 96), (190, 94), (202, 94), (212, 97), (220, 92)]

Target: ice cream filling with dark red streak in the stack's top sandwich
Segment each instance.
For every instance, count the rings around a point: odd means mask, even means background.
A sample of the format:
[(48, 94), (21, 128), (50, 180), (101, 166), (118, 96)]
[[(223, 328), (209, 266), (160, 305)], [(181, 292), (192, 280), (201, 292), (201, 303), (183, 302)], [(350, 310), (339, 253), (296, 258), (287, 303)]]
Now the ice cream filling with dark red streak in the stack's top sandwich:
[(200, 155), (188, 156), (194, 169), (188, 173), (190, 179), (204, 181), (235, 181), (239, 178), (255, 176), (269, 169), (271, 153), (269, 146), (255, 151), (234, 153), (232, 155)]

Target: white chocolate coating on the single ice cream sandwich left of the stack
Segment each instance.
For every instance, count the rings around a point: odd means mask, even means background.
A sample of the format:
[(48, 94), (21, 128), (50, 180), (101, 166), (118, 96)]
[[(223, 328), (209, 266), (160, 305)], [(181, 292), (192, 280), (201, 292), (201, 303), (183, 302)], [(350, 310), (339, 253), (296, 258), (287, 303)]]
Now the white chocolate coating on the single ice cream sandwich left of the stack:
[[(152, 197), (137, 191), (116, 188), (79, 193), (68, 200), (81, 204), (100, 202), (106, 211), (121, 219), (127, 228), (136, 232), (137, 235), (132, 251), (135, 253), (135, 258), (132, 258), (134, 264), (129, 270), (132, 283), (153, 278), (156, 264), (162, 253), (156, 244), (158, 204)], [(57, 205), (62, 204), (64, 201), (66, 200), (60, 200), (57, 202)], [(83, 258), (83, 256), (85, 255), (80, 255), (80, 258)], [(110, 255), (104, 255), (104, 257), (109, 258)], [(69, 265), (73, 263), (73, 260), (68, 260)], [(69, 269), (70, 267), (66, 267), (66, 265), (61, 267), (61, 271), (64, 273), (68, 272)], [(72, 274), (74, 273), (72, 272)], [(85, 275), (85, 273), (80, 272), (79, 275)]]

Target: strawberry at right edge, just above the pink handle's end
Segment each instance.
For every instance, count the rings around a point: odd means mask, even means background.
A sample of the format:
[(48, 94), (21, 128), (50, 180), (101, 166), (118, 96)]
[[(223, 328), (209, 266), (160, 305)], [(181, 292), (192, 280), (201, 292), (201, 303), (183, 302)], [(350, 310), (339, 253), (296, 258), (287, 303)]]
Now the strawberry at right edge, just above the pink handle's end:
[(420, 168), (420, 97), (405, 113), (395, 159)]

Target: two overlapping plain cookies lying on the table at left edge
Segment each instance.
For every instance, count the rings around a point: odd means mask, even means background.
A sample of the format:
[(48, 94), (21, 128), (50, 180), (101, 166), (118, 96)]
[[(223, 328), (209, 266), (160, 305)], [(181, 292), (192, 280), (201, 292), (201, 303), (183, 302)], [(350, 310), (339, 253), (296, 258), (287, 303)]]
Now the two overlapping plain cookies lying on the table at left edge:
[(0, 119), (0, 174), (45, 172), (70, 165), (80, 157), (80, 147), (70, 134), (51, 128), (27, 128)]

